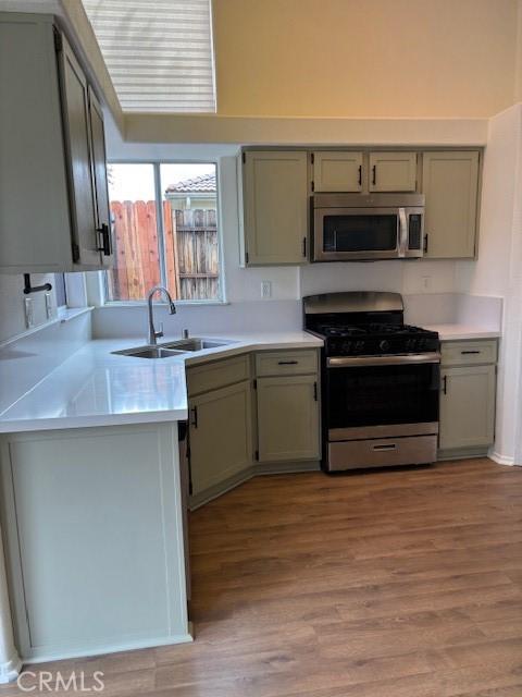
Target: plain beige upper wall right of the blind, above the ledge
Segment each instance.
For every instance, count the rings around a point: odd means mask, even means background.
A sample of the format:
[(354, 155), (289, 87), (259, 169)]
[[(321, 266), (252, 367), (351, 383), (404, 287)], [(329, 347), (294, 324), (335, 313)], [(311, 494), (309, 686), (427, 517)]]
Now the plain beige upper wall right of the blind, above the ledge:
[(520, 0), (213, 0), (222, 115), (490, 117)]

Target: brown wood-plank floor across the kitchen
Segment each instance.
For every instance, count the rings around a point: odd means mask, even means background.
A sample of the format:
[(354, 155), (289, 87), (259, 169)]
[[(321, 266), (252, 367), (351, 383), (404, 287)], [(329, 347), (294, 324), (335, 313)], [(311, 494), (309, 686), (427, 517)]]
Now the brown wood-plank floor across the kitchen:
[(522, 696), (522, 468), (260, 477), (190, 526), (195, 644), (41, 670), (111, 697)]

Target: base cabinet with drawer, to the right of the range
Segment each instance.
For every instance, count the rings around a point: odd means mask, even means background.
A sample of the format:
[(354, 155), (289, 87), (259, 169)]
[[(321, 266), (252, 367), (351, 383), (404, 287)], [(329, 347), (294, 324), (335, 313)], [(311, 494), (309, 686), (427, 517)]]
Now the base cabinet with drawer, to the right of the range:
[(439, 449), (485, 450), (495, 436), (496, 341), (444, 342)]

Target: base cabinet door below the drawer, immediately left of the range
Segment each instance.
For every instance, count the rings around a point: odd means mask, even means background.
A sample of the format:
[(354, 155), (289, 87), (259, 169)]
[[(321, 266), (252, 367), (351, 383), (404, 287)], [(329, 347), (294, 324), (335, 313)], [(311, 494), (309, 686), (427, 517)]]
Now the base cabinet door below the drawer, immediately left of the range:
[(259, 461), (319, 460), (316, 376), (258, 379)]

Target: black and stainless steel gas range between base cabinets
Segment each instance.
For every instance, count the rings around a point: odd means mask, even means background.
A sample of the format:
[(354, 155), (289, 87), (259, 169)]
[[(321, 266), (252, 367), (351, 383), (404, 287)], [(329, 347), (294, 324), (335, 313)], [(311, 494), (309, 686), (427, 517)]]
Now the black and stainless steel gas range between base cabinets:
[(438, 334), (403, 323), (398, 293), (303, 298), (304, 329), (324, 339), (323, 468), (436, 460)]

